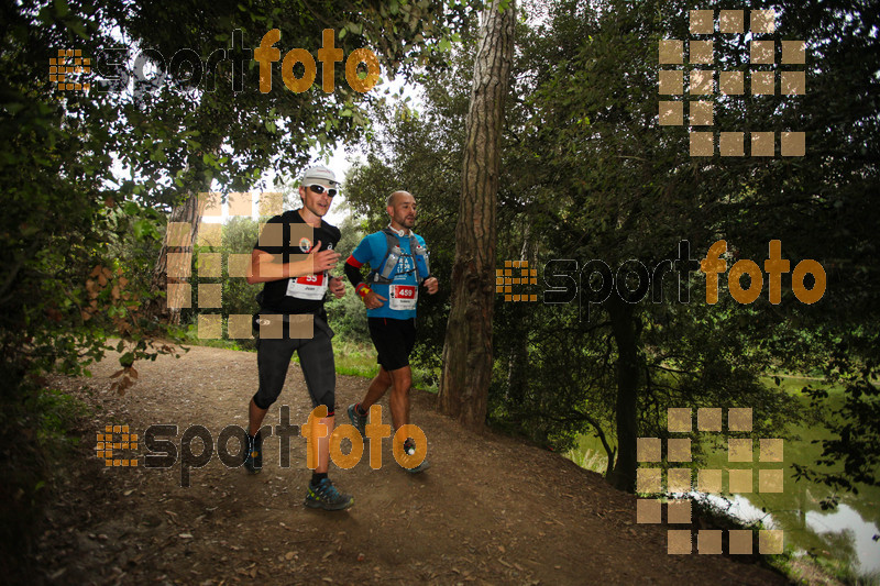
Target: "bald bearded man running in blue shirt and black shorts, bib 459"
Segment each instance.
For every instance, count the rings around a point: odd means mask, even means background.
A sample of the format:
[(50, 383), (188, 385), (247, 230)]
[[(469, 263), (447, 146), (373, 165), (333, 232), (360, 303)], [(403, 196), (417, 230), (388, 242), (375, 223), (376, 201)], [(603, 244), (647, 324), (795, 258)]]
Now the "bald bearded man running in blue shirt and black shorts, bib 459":
[[(349, 406), (349, 418), (361, 435), (366, 433), (370, 407), (392, 388), (391, 410), (394, 429), (409, 423), (409, 387), (413, 373), (409, 354), (416, 343), (416, 305), (419, 285), (429, 295), (437, 292), (437, 279), (429, 274), (425, 240), (413, 232), (416, 199), (406, 191), (395, 191), (386, 200), (388, 226), (364, 237), (345, 262), (345, 275), (366, 306), (370, 336), (378, 353), (378, 375), (370, 383), (364, 399)], [(372, 272), (364, 281), (361, 267)], [(425, 446), (427, 449), (427, 446)], [(404, 451), (415, 452), (407, 438)], [(427, 469), (424, 460), (408, 472)]]

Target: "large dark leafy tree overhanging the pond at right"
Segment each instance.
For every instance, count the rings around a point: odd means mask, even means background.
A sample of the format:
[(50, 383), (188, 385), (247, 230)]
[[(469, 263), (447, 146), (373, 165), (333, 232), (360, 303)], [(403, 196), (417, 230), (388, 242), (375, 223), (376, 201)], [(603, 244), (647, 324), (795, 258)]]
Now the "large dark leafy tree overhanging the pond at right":
[[(826, 460), (851, 455), (846, 474), (865, 482), (877, 462), (870, 453), (877, 453), (871, 445), (878, 436), (871, 378), (878, 305), (877, 288), (867, 286), (876, 267), (867, 251), (876, 247), (870, 234), (878, 215), (867, 194), (876, 192), (878, 177), (871, 156), (878, 145), (878, 51), (870, 42), (878, 14), (846, 0), (770, 4), (750, 8), (776, 9), (778, 37), (806, 40), (806, 96), (714, 97), (712, 130), (716, 145), (717, 131), (773, 131), (778, 147), (781, 132), (803, 129), (803, 157), (748, 156), (748, 147), (746, 156), (723, 157), (716, 148), (714, 156), (691, 157), (684, 124), (658, 125), (658, 102), (668, 99), (658, 96), (658, 42), (686, 37), (689, 11), (717, 4), (613, 1), (591, 29), (596, 3), (560, 2), (548, 21), (556, 53), (538, 69), (528, 98), (538, 130), (527, 151), (552, 186), (540, 201), (554, 228), (546, 241), (557, 257), (602, 259), (612, 269), (601, 279), (606, 290), (586, 272), (575, 268), (571, 276), (580, 278), (584, 307), (593, 301), (580, 329), (610, 332), (618, 442), (612, 480), (624, 489), (635, 486), (636, 436), (657, 433), (667, 406), (714, 400), (754, 407), (756, 423), (790, 422), (790, 408), (769, 408), (784, 407), (785, 397), (757, 380), (771, 367), (821, 368), (847, 384), (854, 398), (842, 413), (847, 427), (840, 427), (842, 441), (826, 444)], [(716, 35), (714, 43), (724, 69), (748, 69), (741, 37)], [(685, 62), (683, 68), (688, 76), (700, 66)], [(721, 239), (732, 248), (728, 270), (737, 256), (760, 264), (772, 240), (783, 242), (792, 268), (796, 261), (818, 259), (828, 273), (824, 298), (802, 303), (783, 276), (781, 303), (769, 300), (766, 287), (751, 303), (734, 302), (723, 284), (724, 298), (707, 305), (697, 273), (690, 299), (680, 301), (674, 274), (651, 283), (645, 291), (651, 301), (627, 299), (647, 280), (627, 270), (638, 268), (635, 261), (649, 270), (669, 263), (682, 240), (693, 244), (693, 257), (702, 257)], [(657, 303), (656, 288), (662, 291)]]

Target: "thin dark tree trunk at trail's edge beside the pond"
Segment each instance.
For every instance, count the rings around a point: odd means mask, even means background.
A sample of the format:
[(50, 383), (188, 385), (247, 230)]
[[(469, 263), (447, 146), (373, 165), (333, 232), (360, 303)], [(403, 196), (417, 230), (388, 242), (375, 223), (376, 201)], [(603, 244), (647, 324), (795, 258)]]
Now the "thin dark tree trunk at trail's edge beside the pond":
[(634, 493), (638, 465), (639, 328), (634, 306), (617, 295), (612, 294), (607, 307), (617, 345), (617, 463), (609, 480), (616, 488)]

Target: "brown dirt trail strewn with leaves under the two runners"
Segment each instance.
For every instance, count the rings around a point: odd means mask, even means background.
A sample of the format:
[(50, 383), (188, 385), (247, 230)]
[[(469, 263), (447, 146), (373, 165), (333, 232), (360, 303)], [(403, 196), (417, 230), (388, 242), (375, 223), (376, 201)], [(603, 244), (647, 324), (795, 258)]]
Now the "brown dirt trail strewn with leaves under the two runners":
[[(193, 347), (182, 358), (138, 364), (125, 396), (109, 390), (114, 356), (89, 379), (56, 386), (102, 406), (82, 430), (81, 458), (47, 511), (36, 555), (52, 584), (784, 584), (754, 564), (716, 555), (668, 555), (666, 526), (636, 523), (632, 496), (558, 454), (487, 433), (475, 435), (433, 411), (433, 397), (414, 390), (413, 420), (429, 442), (430, 471), (410, 476), (389, 441), (383, 467), (367, 454), (330, 476), (355, 505), (344, 512), (302, 506), (310, 472), (305, 440), (290, 441), (290, 466), (279, 465), (277, 438), (266, 440), (262, 474), (228, 468), (215, 451), (180, 487), (170, 469), (105, 467), (96, 433), (129, 424), (245, 427), (256, 384), (256, 356)], [(338, 379), (338, 423), (366, 380)], [(310, 402), (293, 364), (278, 407), (305, 423)], [(387, 403), (384, 407), (389, 421)], [(235, 443), (230, 450), (235, 451)], [(369, 446), (367, 446), (369, 450)], [(199, 441), (194, 442), (198, 453)], [(140, 455), (146, 452), (140, 446)], [(124, 451), (117, 451), (125, 454)], [(133, 455), (133, 452), (128, 452)], [(678, 526), (676, 529), (681, 527)]]

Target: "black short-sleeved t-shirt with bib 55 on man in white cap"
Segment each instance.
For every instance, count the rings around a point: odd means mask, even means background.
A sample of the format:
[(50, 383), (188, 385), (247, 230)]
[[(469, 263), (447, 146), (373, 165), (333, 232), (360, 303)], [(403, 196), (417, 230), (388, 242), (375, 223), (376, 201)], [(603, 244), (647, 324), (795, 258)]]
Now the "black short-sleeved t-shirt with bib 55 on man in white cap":
[[(280, 224), (280, 228), (271, 228)], [(334, 225), (321, 220), (314, 228), (302, 220), (298, 210), (275, 215), (263, 228), (261, 241), (254, 250), (280, 255), (285, 263), (301, 261), (311, 252), (315, 243), (321, 242), (321, 251), (332, 250), (339, 244), (341, 233)], [(327, 272), (298, 278), (271, 280), (263, 285), (261, 308), (278, 313), (315, 313), (323, 307), (329, 275)]]

